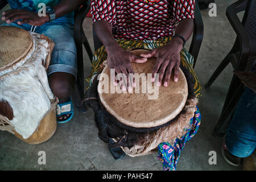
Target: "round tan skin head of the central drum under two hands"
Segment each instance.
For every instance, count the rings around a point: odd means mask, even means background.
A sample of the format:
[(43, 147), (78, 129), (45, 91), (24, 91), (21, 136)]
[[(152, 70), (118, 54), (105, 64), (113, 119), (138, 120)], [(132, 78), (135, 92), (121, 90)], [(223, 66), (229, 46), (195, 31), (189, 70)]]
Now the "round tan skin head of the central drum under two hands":
[[(141, 55), (147, 53), (147, 50), (137, 49), (131, 51), (134, 55)], [(131, 63), (134, 72), (141, 74), (152, 73), (152, 69), (156, 63), (156, 58), (148, 59), (146, 63)], [(171, 119), (174, 119), (183, 110), (188, 97), (188, 84), (184, 73), (179, 69), (179, 81), (174, 82), (173, 76), (171, 77), (170, 84), (167, 87), (160, 86), (157, 99), (148, 99), (152, 96), (152, 90), (146, 90), (142, 93), (142, 81), (139, 81), (139, 93), (105, 93), (99, 92), (104, 89), (102, 84), (104, 82), (104, 75), (100, 75), (98, 83), (98, 93), (102, 104), (106, 110), (112, 114), (117, 120), (126, 126), (131, 127), (156, 127), (163, 125)], [(108, 75), (109, 88), (110, 84), (110, 70), (108, 65), (104, 68), (102, 73)], [(151, 79), (150, 79), (151, 80)], [(138, 85), (137, 85), (138, 86)], [(154, 83), (152, 83), (154, 90)], [(110, 90), (110, 89), (109, 89)]]

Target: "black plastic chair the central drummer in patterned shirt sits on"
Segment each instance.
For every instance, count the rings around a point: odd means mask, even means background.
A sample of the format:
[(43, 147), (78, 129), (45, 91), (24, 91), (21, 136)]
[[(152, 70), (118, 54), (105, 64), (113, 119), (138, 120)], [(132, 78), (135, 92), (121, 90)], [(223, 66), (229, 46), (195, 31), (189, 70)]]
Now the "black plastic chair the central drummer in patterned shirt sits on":
[[(189, 47), (189, 53), (194, 57), (193, 68), (195, 68), (195, 65), (196, 65), (196, 60), (197, 60), (197, 56), (200, 51), (203, 36), (204, 36), (203, 19), (202, 19), (201, 13), (200, 13), (199, 5), (196, 2), (194, 30), (193, 30), (193, 35), (192, 35), (192, 42)], [(97, 50), (98, 48), (100, 48), (102, 46), (102, 43), (101, 43), (100, 39), (98, 39), (95, 31), (93, 31), (93, 42), (94, 42), (95, 50)]]

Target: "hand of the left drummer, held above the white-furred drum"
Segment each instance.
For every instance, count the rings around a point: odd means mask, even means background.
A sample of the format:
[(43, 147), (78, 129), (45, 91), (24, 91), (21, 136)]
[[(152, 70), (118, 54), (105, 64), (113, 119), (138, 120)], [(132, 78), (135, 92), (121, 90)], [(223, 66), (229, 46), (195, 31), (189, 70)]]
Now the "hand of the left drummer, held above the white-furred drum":
[(2, 20), (6, 23), (13, 23), (18, 20), (17, 24), (28, 23), (34, 26), (42, 26), (42, 24), (48, 22), (49, 16), (39, 17), (33, 11), (11, 9), (3, 12)]

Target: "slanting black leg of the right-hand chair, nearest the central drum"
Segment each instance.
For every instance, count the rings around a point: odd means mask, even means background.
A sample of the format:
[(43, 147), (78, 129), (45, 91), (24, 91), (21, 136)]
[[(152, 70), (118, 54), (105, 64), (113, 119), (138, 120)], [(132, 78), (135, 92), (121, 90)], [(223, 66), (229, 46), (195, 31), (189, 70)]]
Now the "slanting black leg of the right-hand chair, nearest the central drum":
[(234, 58), (234, 55), (228, 55), (225, 57), (225, 59), (221, 62), (220, 65), (218, 65), (218, 68), (216, 69), (216, 71), (214, 71), (213, 75), (210, 77), (210, 79), (208, 80), (208, 82), (204, 85), (204, 88), (208, 88), (210, 85), (212, 85), (212, 83), (216, 80), (216, 78), (218, 77), (218, 75), (220, 75), (220, 73), (226, 68), (226, 66), (230, 63), (230, 59)]

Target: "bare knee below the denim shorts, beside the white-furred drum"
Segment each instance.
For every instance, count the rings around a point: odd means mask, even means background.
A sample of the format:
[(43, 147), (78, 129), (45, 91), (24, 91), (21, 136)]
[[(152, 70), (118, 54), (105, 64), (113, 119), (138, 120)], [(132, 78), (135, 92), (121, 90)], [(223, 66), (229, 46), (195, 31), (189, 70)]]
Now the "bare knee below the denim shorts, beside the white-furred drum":
[(56, 73), (52, 73), (49, 75), (49, 86), (56, 97), (60, 99), (68, 98), (73, 92), (73, 88), (75, 86), (75, 78), (62, 77), (56, 75)]

